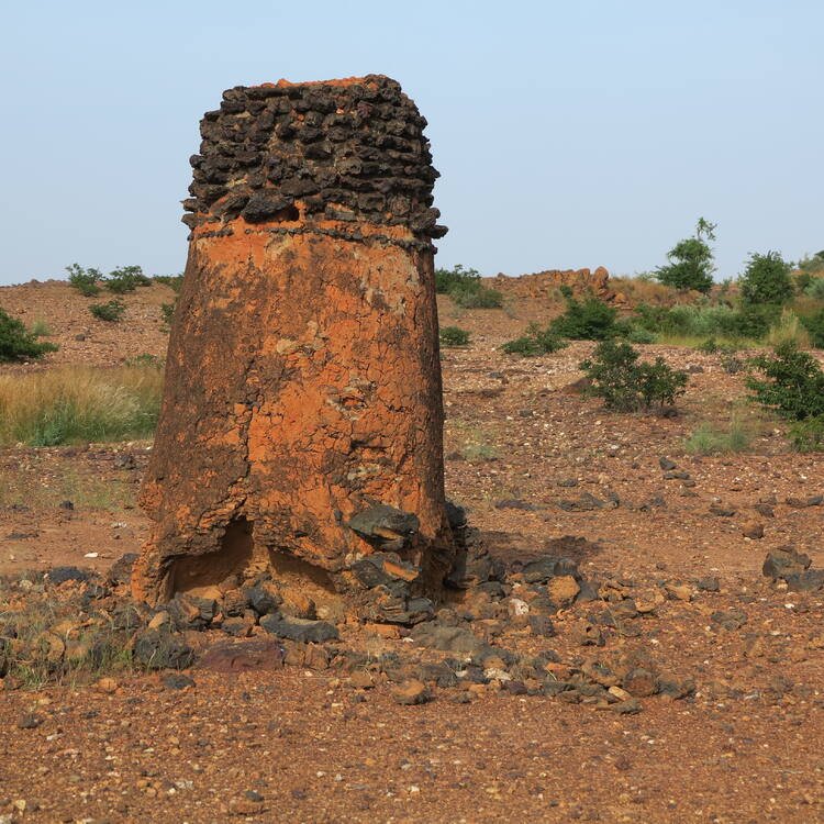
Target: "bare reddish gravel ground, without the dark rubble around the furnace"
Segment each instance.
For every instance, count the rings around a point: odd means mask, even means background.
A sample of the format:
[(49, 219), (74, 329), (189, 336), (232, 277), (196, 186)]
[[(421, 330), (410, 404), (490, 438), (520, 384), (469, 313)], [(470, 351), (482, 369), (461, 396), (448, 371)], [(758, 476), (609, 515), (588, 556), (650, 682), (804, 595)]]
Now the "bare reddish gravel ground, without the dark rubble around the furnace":
[[(105, 366), (163, 355), (159, 305), (171, 294), (126, 296), (114, 327), (54, 283), (0, 289), (0, 305), (52, 327), (62, 348), (37, 368)], [(572, 387), (590, 344), (527, 359), (498, 349), (535, 313), (441, 304), (442, 325), (472, 334), (443, 353), (447, 493), (504, 559), (581, 536), (587, 576), (687, 584), (689, 600), (606, 633), (604, 654), (643, 648), (692, 678), (692, 697), (643, 699), (633, 715), (492, 691), (399, 706), (385, 684), (353, 690), (333, 672), (197, 666), (183, 690), (157, 676), (119, 677), (111, 692), (5, 690), (0, 822), (824, 821), (822, 593), (787, 592), (760, 571), (787, 544), (824, 566), (821, 461), (789, 450), (782, 425), (746, 402), (743, 377), (717, 355), (641, 347), (690, 370), (681, 414), (605, 412)], [(747, 453), (686, 452), (700, 424), (733, 416), (751, 433)], [(1, 450), (0, 574), (103, 570), (138, 550), (149, 450)], [(684, 477), (665, 477), (661, 457)], [(746, 537), (754, 527), (764, 536)], [(699, 586), (713, 577), (717, 591)], [(575, 630), (592, 609), (559, 615), (544, 647), (586, 656)], [(717, 620), (731, 612), (744, 614), (732, 628)], [(30, 714), (38, 723), (21, 724)]]

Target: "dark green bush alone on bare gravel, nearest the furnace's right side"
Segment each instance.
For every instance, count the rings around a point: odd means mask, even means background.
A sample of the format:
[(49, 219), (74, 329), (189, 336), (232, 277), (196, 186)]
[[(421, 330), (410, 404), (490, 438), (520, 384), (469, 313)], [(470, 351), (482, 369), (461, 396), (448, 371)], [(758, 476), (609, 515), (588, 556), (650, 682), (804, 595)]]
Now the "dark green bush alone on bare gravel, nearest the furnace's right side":
[(627, 343), (602, 341), (580, 365), (591, 382), (590, 393), (617, 412), (673, 404), (684, 392), (687, 372), (672, 369), (660, 356), (652, 364), (639, 364), (638, 356)]

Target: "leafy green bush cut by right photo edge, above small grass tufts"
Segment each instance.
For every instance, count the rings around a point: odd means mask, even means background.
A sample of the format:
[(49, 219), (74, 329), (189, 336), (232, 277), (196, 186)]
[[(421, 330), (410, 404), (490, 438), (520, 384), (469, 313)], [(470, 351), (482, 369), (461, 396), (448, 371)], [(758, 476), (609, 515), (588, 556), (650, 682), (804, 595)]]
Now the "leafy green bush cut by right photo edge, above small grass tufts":
[(750, 376), (747, 387), (762, 407), (793, 421), (824, 415), (824, 371), (809, 353), (792, 342), (759, 355), (750, 365), (764, 375)]

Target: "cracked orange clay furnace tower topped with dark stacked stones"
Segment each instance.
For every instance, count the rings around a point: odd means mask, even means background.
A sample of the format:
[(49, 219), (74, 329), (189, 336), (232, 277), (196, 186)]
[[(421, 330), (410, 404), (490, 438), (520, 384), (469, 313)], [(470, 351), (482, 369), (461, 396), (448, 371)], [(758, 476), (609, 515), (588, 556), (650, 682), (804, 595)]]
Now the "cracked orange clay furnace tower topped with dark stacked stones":
[(319, 609), (363, 601), (348, 567), (376, 549), (410, 598), (438, 594), (456, 546), (424, 125), (372, 75), (235, 89), (204, 116), (138, 599), (268, 572)]

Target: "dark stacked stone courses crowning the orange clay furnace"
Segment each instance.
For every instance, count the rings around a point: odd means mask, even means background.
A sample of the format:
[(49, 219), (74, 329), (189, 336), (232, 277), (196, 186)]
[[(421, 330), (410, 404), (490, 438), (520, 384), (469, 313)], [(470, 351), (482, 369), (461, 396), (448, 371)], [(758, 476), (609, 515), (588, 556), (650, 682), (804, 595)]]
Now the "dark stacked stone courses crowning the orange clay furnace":
[(380, 75), (230, 89), (201, 121), (183, 222), (365, 221), (441, 237), (425, 125)]

